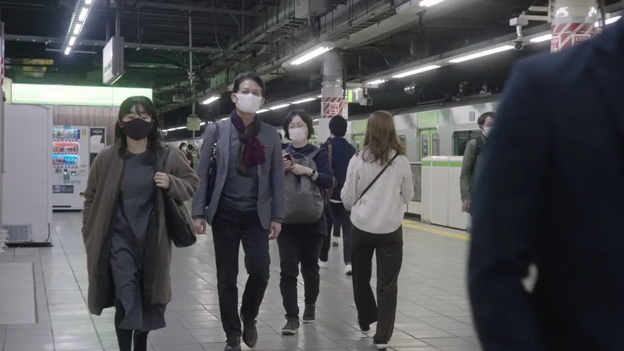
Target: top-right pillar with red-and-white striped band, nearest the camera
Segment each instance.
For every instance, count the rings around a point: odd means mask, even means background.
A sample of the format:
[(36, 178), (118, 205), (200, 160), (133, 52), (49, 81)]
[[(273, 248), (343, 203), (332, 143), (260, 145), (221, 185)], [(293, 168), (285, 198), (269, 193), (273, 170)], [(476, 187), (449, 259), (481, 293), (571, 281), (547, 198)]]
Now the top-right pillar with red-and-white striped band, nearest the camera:
[(551, 0), (550, 52), (558, 52), (590, 39), (598, 29), (597, 0)]

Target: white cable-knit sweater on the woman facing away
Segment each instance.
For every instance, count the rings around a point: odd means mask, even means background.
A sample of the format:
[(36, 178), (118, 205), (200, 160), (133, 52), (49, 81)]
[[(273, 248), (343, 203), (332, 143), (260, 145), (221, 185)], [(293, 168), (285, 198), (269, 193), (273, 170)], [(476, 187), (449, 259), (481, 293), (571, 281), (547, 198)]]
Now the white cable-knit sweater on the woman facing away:
[[(359, 195), (385, 166), (364, 161), (363, 152), (358, 152), (349, 161), (347, 177), (340, 193), (344, 207), (351, 210), (351, 222), (358, 229), (375, 234), (394, 232), (403, 222), (405, 205), (414, 197), (409, 161), (405, 156), (397, 157), (358, 201)], [(389, 158), (395, 153), (391, 151)]]

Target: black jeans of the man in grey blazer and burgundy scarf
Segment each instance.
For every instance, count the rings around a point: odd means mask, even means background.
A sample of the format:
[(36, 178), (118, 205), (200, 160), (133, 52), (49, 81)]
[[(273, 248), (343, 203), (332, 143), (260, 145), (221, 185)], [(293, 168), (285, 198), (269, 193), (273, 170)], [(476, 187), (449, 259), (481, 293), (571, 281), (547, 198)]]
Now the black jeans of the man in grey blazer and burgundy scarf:
[(221, 323), (227, 337), (241, 336), (238, 316), (238, 252), (240, 243), (245, 250), (245, 269), (249, 277), (243, 292), (240, 313), (255, 318), (265, 296), (269, 280), (269, 230), (260, 225), (256, 210), (240, 212), (217, 209), (212, 221), (212, 237), (217, 262), (217, 290)]

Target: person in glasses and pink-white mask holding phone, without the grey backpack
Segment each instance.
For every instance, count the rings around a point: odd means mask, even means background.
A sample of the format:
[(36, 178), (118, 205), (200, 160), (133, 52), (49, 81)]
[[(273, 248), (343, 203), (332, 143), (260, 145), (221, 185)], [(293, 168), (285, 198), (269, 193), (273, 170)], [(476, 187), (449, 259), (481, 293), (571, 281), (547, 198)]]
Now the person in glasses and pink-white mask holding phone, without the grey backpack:
[[(285, 172), (301, 177), (310, 177), (321, 191), (333, 185), (333, 172), (329, 164), (329, 155), (323, 149), (308, 143), (314, 134), (312, 117), (306, 111), (291, 111), (284, 122), (284, 137), (290, 139), (291, 146), (286, 148), (288, 154), (316, 155), (312, 160), (316, 171), (301, 164), (284, 159)], [(288, 195), (288, 190), (286, 190)], [(288, 209), (286, 209), (288, 212)], [(323, 237), (327, 234), (325, 215), (313, 223), (288, 224), (282, 227), (277, 244), (280, 249), (280, 291), (286, 310), (286, 325), (282, 334), (293, 335), (299, 329), (299, 306), (297, 295), (297, 277), (301, 264), (303, 287), (305, 289), (305, 309), (303, 322), (311, 323), (316, 318), (316, 298), (319, 293), (321, 276), (319, 275), (318, 257), (321, 252)]]

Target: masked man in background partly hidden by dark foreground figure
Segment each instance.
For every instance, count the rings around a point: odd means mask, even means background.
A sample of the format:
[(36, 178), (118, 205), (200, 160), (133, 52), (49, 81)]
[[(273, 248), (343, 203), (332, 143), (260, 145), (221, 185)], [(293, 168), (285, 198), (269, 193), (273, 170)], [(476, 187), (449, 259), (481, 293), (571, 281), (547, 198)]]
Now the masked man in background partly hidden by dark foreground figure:
[(462, 162), (462, 173), (459, 177), (459, 189), (462, 195), (462, 211), (469, 212), (471, 194), (474, 193), (474, 183), (479, 175), (479, 154), (487, 141), (492, 126), (494, 126), (494, 112), (485, 112), (477, 124), (481, 130), (481, 135), (475, 137), (466, 144), (464, 151), (464, 161)]

